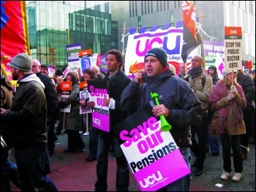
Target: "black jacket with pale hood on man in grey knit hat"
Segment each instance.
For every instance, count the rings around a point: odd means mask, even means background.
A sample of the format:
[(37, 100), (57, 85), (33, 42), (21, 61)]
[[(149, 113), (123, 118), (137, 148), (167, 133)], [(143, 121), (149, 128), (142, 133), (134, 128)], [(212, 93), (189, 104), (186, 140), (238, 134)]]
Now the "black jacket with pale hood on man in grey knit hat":
[(2, 113), (1, 121), (10, 125), (13, 147), (45, 149), (47, 145), (45, 86), (36, 74), (26, 75), (18, 81), (18, 84), (10, 112)]

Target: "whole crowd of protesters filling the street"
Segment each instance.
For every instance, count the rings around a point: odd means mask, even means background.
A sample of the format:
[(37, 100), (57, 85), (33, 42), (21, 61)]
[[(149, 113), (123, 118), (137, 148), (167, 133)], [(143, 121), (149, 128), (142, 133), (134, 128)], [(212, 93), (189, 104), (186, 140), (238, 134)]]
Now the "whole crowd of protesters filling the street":
[[(223, 172), (219, 178), (227, 180), (233, 167), (232, 180), (241, 180), (249, 143), (255, 144), (255, 69), (248, 74), (224, 69), (223, 77), (218, 77), (216, 66), (206, 71), (203, 58), (195, 55), (191, 68), (186, 70), (186, 64), (181, 63), (176, 75), (175, 67), (167, 63), (165, 50), (153, 48), (145, 55), (145, 68), (131, 80), (121, 70), (124, 58), (120, 51), (109, 50), (105, 61), (106, 74), (90, 65), (83, 69), (83, 75), (76, 70), (64, 75), (58, 69), (54, 77), (49, 77), (47, 65), (26, 53), (16, 55), (8, 64), (18, 87), (13, 91), (1, 76), (1, 191), (10, 191), (10, 182), (21, 191), (58, 191), (48, 177), (57, 135), (62, 129), (67, 133), (64, 153), (82, 152), (86, 120), (90, 140), (86, 161), (97, 161), (94, 191), (108, 190), (108, 153), (112, 149), (117, 166), (116, 191), (128, 191), (129, 164), (116, 136), (112, 131), (94, 128), (91, 114), (89, 118), (80, 114), (80, 107), (94, 107), (94, 101), (79, 95), (79, 82), (86, 80), (109, 80), (109, 98), (104, 102), (110, 109), (110, 128), (148, 104), (150, 92), (157, 90), (163, 101), (153, 113), (164, 115), (173, 126), (170, 133), (187, 166), (195, 166), (195, 176), (203, 174), (206, 153), (217, 156), (222, 151)], [(72, 83), (66, 99), (61, 98), (63, 82)], [(69, 104), (70, 112), (61, 112)], [(12, 148), (16, 162), (10, 161)], [(191, 151), (196, 157), (193, 162)], [(160, 191), (189, 191), (190, 177), (181, 177)]]

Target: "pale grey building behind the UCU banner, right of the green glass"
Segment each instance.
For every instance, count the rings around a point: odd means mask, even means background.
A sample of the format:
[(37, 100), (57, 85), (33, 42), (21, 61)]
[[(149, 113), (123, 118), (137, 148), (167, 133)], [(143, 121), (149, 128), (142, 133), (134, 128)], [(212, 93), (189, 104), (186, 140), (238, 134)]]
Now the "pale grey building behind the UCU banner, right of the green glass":
[[(255, 1), (194, 1), (202, 39), (224, 42), (225, 26), (242, 28), (242, 60), (255, 61)], [(182, 20), (182, 1), (114, 1), (112, 20), (118, 21), (118, 39), (129, 28), (175, 26)], [(125, 30), (124, 30), (125, 23)], [(124, 45), (123, 45), (124, 42)], [(119, 41), (119, 49), (127, 47), (127, 36)], [(255, 65), (255, 64), (254, 64)]]

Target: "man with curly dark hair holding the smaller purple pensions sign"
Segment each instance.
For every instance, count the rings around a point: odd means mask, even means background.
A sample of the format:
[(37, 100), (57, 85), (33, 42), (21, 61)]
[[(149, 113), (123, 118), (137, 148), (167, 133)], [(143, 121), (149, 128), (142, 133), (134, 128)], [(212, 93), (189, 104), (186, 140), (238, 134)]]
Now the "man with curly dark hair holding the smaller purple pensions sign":
[[(131, 80), (121, 70), (124, 58), (119, 50), (109, 50), (105, 61), (108, 73), (104, 80), (109, 80), (110, 89), (109, 98), (104, 99), (104, 102), (105, 106), (110, 109), (110, 133), (99, 131), (95, 191), (107, 191), (108, 189), (108, 152), (112, 144), (117, 164), (116, 191), (129, 191), (129, 165), (111, 129), (127, 118), (127, 113), (120, 110), (120, 96)], [(88, 101), (87, 107), (94, 107), (94, 102)]]

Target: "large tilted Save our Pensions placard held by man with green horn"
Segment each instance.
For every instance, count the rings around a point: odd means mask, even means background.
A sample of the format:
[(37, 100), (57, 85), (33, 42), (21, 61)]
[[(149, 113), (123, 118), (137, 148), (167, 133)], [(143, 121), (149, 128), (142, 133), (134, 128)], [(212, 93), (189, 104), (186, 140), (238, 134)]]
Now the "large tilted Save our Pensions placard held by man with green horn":
[(150, 104), (113, 128), (141, 191), (157, 191), (190, 173), (169, 131)]

